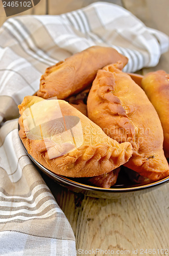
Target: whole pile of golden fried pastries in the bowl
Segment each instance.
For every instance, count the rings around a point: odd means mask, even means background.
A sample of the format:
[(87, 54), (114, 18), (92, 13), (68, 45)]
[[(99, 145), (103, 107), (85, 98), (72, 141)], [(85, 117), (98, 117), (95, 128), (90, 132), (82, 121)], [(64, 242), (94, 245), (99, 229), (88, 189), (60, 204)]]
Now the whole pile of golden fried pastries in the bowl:
[(106, 188), (122, 166), (133, 181), (169, 176), (169, 76), (149, 73), (141, 88), (122, 71), (127, 61), (94, 46), (46, 69), (37, 96), (18, 106), (19, 136), (36, 161)]

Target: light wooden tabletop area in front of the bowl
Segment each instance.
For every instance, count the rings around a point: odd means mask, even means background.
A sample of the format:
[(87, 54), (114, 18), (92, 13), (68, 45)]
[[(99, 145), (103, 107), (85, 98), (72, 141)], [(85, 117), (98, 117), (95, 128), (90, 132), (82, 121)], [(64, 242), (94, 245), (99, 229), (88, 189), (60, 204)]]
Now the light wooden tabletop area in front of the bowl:
[(141, 249), (167, 248), (169, 184), (146, 194), (113, 200), (83, 197), (46, 176), (44, 179), (74, 230), (77, 250), (122, 250), (119, 255), (127, 250), (133, 255), (132, 250), (138, 249), (137, 255), (142, 255)]

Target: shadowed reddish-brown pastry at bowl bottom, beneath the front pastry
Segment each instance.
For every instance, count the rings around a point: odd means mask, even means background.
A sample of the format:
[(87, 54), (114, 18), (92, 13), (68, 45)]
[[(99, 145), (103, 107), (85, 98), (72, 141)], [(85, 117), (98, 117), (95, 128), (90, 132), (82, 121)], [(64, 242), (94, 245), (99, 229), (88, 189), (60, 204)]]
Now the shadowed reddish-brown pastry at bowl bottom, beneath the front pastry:
[(97, 187), (110, 188), (116, 183), (119, 171), (120, 171), (120, 167), (112, 170), (108, 174), (94, 176), (90, 178), (88, 182)]

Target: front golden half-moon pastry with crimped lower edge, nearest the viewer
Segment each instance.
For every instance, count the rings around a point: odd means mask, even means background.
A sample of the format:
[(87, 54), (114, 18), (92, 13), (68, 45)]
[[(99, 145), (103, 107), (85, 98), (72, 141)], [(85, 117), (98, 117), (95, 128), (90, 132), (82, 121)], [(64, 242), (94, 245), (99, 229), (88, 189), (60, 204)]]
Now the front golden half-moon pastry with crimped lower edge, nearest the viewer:
[(18, 106), (19, 136), (28, 153), (52, 172), (91, 177), (110, 172), (132, 155), (64, 100), (27, 96)]

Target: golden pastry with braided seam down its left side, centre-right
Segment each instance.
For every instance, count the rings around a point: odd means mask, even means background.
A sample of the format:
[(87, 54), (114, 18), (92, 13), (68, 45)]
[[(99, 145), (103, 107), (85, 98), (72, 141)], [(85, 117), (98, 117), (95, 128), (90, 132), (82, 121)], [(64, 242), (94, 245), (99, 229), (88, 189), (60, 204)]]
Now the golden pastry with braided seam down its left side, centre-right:
[(125, 166), (151, 180), (162, 179), (169, 168), (158, 114), (122, 67), (118, 63), (98, 71), (87, 99), (88, 117), (111, 138), (131, 142), (133, 155)]

